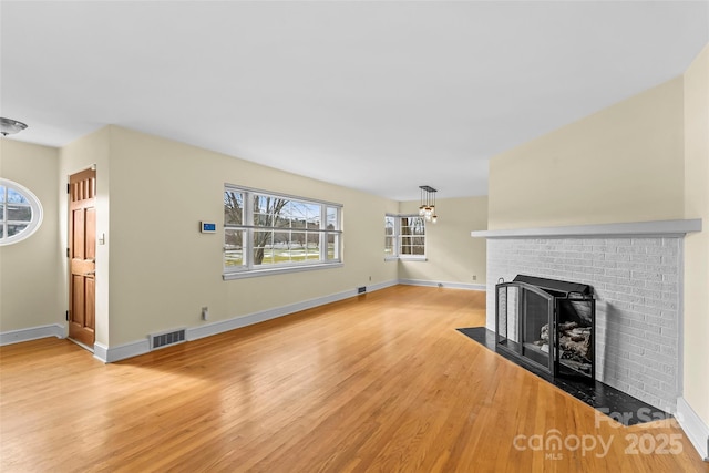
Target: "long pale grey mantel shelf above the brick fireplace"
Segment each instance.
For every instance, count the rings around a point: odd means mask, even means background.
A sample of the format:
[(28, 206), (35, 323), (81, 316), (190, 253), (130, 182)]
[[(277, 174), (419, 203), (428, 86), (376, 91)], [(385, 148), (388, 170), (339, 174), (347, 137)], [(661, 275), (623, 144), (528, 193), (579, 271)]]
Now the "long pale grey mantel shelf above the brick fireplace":
[(604, 238), (604, 237), (684, 237), (701, 232), (701, 218), (687, 220), (631, 222), (619, 224), (573, 225), (565, 227), (511, 228), (471, 232), (473, 238)]

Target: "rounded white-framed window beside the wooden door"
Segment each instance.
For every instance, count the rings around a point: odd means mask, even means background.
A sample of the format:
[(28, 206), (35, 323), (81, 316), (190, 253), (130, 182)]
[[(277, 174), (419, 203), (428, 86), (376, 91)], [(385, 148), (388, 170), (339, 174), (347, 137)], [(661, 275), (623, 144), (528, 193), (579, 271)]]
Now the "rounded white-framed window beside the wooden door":
[(42, 205), (30, 189), (0, 177), (0, 245), (28, 238), (42, 223)]

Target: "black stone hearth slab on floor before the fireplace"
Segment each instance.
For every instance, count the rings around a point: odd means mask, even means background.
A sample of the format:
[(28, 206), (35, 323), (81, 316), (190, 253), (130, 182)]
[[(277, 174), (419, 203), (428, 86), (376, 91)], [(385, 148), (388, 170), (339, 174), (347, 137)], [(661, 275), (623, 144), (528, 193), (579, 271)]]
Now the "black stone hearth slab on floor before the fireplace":
[(528, 363), (521, 363), (517, 357), (511, 356), (505, 351), (495, 350), (495, 332), (487, 330), (485, 327), (462, 328), (458, 329), (458, 331), (545, 381), (548, 381), (579, 401), (585, 402), (605, 414), (609, 414), (624, 425), (636, 425), (671, 417), (669, 413), (604, 384), (600, 381), (588, 382), (573, 378), (555, 378), (543, 370), (531, 367)]

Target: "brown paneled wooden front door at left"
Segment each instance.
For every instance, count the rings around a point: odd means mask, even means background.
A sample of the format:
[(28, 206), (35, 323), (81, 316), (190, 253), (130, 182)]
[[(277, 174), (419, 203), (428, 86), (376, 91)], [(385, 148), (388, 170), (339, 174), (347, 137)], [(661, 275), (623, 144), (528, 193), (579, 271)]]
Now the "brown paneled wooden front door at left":
[(96, 274), (96, 172), (69, 177), (69, 338), (93, 348)]

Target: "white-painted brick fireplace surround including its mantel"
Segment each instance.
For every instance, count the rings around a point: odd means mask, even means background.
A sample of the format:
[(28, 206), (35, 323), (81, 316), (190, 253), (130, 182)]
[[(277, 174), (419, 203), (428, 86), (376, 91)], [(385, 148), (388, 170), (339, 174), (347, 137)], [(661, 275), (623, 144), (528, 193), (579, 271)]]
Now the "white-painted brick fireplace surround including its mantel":
[(495, 284), (520, 274), (590, 285), (596, 379), (674, 412), (681, 393), (682, 241), (698, 220), (473, 232), (487, 238), (487, 318)]

